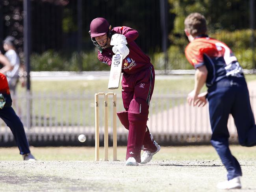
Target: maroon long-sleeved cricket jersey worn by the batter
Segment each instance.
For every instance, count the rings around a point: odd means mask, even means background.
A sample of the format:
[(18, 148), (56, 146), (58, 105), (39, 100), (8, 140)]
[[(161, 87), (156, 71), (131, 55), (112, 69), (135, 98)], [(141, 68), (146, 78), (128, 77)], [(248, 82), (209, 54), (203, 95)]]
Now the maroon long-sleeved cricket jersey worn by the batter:
[[(139, 36), (138, 31), (125, 26), (115, 27), (112, 31), (114, 34), (118, 33), (126, 37), (126, 41), (128, 43), (127, 46), (130, 50), (127, 57), (123, 60), (123, 73), (135, 74), (142, 69), (152, 66), (152, 63), (150, 63), (150, 58), (144, 54), (139, 46), (134, 42), (134, 40)], [(112, 52), (112, 47), (98, 50), (98, 59), (107, 65), (111, 65), (113, 55), (114, 53)]]

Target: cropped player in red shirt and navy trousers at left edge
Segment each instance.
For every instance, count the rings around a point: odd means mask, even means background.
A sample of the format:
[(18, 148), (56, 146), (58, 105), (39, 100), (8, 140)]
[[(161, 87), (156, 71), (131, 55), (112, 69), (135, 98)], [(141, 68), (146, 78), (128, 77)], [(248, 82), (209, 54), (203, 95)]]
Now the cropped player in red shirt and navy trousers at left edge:
[[(2, 61), (1, 55), (0, 61)], [(7, 78), (4, 74), (0, 73), (0, 118), (4, 120), (6, 125), (11, 129), (23, 160), (35, 161), (35, 157), (30, 153), (30, 147), (23, 124), (11, 107), (11, 103), (12, 100)]]

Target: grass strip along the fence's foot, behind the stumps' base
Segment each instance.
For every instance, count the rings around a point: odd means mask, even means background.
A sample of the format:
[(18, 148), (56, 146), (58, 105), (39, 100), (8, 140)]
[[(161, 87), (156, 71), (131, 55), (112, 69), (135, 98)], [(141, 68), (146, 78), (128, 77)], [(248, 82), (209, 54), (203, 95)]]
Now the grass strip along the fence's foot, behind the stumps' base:
[[(113, 159), (112, 149), (109, 148), (109, 161)], [(256, 148), (245, 148), (237, 145), (230, 146), (237, 159), (255, 160)], [(31, 147), (31, 151), (40, 161), (94, 161), (94, 147)], [(100, 158), (103, 159), (104, 149), (100, 147)], [(21, 161), (21, 155), (17, 147), (0, 148), (0, 161)], [(125, 160), (126, 147), (118, 147), (118, 158)], [(162, 147), (154, 156), (155, 161), (194, 161), (194, 160), (218, 160), (219, 157), (212, 146), (170, 146)]]

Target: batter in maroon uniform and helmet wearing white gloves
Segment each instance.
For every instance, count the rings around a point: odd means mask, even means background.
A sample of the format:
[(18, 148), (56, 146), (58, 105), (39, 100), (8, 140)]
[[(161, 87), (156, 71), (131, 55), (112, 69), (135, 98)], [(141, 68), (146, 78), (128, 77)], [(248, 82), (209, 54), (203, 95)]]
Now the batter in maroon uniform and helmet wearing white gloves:
[[(138, 32), (122, 26), (111, 28), (105, 18), (95, 18), (90, 25), (91, 39), (98, 47), (98, 59), (111, 65), (112, 56), (123, 55), (122, 100), (126, 111), (117, 115), (129, 130), (126, 165), (145, 164), (160, 150), (147, 127), (148, 108), (154, 90), (155, 73), (150, 58), (134, 42)], [(141, 157), (141, 148), (144, 153)]]

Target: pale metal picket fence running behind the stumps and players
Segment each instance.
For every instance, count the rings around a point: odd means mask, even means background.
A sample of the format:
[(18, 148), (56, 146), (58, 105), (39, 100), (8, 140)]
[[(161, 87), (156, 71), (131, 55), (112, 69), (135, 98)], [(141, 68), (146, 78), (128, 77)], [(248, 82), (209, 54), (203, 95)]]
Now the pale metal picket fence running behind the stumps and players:
[[(154, 138), (164, 145), (209, 143), (211, 128), (208, 107), (189, 107), (187, 94), (154, 94), (150, 103), (148, 127)], [(31, 118), (26, 116), (26, 101), (31, 101)], [(17, 114), (22, 120), (30, 144), (34, 146), (79, 145), (78, 135), (87, 136), (86, 145), (95, 141), (94, 93), (45, 94), (43, 92), (13, 97)], [(253, 111), (256, 111), (256, 94), (250, 92)], [(99, 100), (100, 143), (104, 137), (103, 98)], [(24, 110), (24, 111), (23, 111)], [(111, 108), (109, 109), (109, 111)], [(117, 93), (117, 110), (123, 111), (120, 93)], [(110, 113), (110, 112), (109, 112)], [(27, 122), (31, 123), (27, 126)], [(112, 119), (109, 116), (109, 144), (112, 140)], [(237, 132), (232, 117), (228, 122), (230, 138), (237, 142)], [(117, 120), (118, 144), (126, 144), (128, 131)], [(0, 145), (13, 145), (13, 135), (0, 121)]]

